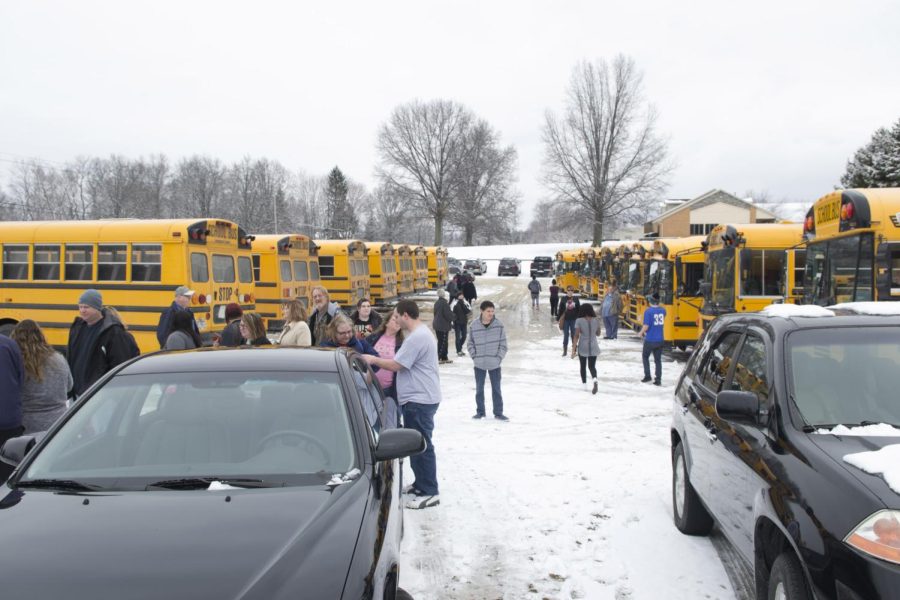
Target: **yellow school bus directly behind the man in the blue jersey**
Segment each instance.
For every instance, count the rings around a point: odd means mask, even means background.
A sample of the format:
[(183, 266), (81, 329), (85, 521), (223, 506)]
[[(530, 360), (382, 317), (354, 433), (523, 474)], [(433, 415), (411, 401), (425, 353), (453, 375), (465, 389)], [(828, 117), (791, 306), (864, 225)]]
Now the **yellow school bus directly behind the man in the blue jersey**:
[[(693, 346), (700, 337), (705, 242), (706, 236), (702, 235), (654, 240), (647, 261), (644, 298), (659, 295), (659, 305), (666, 309), (663, 341), (682, 350)], [(643, 321), (643, 313), (640, 320)]]

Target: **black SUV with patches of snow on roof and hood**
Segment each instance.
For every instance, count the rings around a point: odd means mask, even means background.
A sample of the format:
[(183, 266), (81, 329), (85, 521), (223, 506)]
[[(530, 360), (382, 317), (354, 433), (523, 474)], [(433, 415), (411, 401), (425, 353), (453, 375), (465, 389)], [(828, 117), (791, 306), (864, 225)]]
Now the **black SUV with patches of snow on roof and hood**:
[(900, 313), (853, 306), (721, 316), (675, 389), (675, 525), (717, 521), (757, 598), (900, 593), (900, 485), (863, 462), (900, 443)]

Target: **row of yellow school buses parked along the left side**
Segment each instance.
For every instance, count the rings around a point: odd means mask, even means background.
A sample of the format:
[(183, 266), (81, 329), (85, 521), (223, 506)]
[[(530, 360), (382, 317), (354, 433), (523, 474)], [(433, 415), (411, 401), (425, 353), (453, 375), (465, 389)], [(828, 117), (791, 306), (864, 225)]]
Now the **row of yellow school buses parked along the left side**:
[(281, 304), (298, 298), (309, 306), (317, 285), (351, 307), (360, 298), (389, 304), (446, 282), (440, 246), (254, 236), (222, 219), (0, 222), (0, 334), (34, 319), (58, 347), (88, 288), (119, 310), (147, 352), (158, 349), (159, 315), (180, 285), (195, 291), (191, 310), (209, 340), (225, 327), (232, 302), (277, 330)]

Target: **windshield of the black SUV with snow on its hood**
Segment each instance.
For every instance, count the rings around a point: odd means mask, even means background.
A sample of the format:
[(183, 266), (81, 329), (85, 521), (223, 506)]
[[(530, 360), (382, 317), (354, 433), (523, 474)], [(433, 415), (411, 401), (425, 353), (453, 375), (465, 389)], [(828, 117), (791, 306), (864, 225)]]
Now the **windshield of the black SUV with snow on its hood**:
[(898, 339), (898, 327), (792, 333), (791, 395), (806, 424), (900, 426)]

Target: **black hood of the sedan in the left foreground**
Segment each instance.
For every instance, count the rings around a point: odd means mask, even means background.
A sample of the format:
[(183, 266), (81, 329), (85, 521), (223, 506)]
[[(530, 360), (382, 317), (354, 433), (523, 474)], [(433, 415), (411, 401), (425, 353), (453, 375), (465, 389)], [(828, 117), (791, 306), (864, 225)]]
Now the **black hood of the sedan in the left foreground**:
[(340, 598), (366, 481), (109, 494), (3, 485), (3, 597)]

